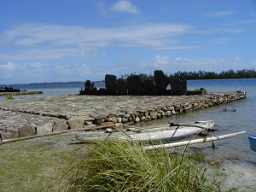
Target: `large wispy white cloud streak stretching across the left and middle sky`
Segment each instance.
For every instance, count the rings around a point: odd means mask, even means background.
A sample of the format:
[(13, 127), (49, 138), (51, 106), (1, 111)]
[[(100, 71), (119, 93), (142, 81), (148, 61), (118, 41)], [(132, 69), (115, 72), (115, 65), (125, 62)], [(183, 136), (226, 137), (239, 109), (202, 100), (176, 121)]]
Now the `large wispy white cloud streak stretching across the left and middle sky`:
[(0, 34), (0, 46), (15, 47), (2, 51), (5, 61), (87, 58), (108, 46), (167, 47), (176, 41), (170, 37), (187, 33), (191, 26), (182, 24), (144, 24), (119, 27), (61, 26), (26, 23)]

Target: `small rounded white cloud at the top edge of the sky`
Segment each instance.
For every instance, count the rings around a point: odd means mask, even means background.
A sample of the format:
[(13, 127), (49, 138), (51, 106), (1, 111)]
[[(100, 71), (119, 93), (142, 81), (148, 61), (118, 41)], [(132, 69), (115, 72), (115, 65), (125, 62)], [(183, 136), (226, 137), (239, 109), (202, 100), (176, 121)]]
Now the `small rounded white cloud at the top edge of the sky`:
[(139, 14), (139, 9), (133, 5), (130, 1), (120, 0), (117, 3), (114, 3), (110, 9), (115, 13), (130, 13), (130, 14)]

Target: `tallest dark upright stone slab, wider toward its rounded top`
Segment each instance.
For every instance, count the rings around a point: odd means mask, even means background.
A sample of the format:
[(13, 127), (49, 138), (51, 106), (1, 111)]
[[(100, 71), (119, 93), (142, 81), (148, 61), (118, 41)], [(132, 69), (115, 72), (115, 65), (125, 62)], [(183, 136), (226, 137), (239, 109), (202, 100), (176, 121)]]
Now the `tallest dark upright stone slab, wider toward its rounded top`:
[(170, 84), (170, 79), (161, 70), (156, 70), (154, 71), (154, 84), (156, 94), (163, 96), (167, 94), (166, 88)]

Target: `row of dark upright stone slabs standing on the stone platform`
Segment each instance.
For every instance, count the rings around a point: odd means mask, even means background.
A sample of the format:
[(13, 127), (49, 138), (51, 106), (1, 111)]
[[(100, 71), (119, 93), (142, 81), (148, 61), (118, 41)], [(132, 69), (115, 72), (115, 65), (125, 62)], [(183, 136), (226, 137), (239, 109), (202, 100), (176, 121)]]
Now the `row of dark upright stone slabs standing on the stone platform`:
[[(127, 79), (117, 79), (116, 76), (107, 74), (105, 76), (106, 89), (97, 90), (94, 84), (87, 80), (84, 90), (80, 95), (96, 96), (179, 96), (185, 95), (187, 81), (181, 79), (170, 79), (160, 70), (154, 71), (154, 80), (142, 80), (139, 75), (131, 75)], [(171, 84), (171, 90), (167, 89)]]

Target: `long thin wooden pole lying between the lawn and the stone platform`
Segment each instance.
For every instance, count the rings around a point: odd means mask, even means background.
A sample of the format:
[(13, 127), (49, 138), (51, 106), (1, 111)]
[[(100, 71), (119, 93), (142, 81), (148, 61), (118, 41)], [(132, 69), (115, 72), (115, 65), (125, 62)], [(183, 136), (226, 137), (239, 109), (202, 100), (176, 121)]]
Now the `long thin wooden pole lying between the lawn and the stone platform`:
[(46, 134), (42, 134), (42, 135), (35, 135), (35, 136), (29, 136), (29, 137), (20, 137), (20, 138), (15, 138), (15, 139), (3, 140), (2, 142), (0, 140), (0, 144), (14, 143), (14, 142), (17, 142), (17, 141), (23, 141), (23, 140), (38, 138), (38, 137), (55, 136), (55, 135), (58, 135), (58, 134), (73, 132), (73, 131), (96, 131), (96, 130), (99, 130), (99, 129), (108, 128), (108, 127), (112, 127), (112, 126), (113, 125), (104, 125), (104, 126), (95, 126), (95, 127), (91, 127), (91, 128), (73, 129), (73, 130), (65, 130), (65, 131), (55, 131), (55, 132), (50, 132), (50, 133), (46, 133)]

